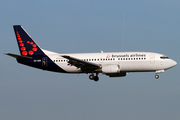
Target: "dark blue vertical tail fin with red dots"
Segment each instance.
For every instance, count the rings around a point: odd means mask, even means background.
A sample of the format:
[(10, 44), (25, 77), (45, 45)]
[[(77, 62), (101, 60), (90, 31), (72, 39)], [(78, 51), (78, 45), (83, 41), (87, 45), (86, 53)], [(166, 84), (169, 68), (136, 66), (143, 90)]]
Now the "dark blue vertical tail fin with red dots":
[(20, 25), (14, 25), (19, 51), (22, 56), (44, 55), (41, 48), (34, 42), (31, 36)]

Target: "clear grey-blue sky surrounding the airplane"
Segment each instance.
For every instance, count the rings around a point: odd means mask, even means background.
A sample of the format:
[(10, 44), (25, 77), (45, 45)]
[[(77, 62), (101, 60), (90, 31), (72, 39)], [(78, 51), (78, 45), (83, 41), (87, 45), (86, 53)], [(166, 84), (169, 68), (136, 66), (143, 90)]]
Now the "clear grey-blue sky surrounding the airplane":
[(147, 51), (179, 63), (178, 0), (1, 0), (1, 120), (177, 120), (179, 65), (123, 78), (61, 74), (20, 65), (13, 25), (59, 53)]

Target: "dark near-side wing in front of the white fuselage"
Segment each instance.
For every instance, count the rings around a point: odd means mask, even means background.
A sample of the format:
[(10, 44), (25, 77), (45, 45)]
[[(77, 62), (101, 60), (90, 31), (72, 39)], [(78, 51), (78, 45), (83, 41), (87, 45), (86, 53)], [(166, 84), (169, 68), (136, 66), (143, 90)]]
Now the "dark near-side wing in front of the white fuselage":
[(92, 72), (92, 71), (100, 68), (100, 65), (98, 65), (98, 64), (83, 61), (78, 58), (74, 58), (74, 57), (66, 56), (66, 55), (63, 55), (62, 57), (68, 59), (69, 60), (68, 63), (70, 63), (73, 66), (76, 66), (77, 68), (81, 68), (81, 70), (84, 72), (85, 71)]

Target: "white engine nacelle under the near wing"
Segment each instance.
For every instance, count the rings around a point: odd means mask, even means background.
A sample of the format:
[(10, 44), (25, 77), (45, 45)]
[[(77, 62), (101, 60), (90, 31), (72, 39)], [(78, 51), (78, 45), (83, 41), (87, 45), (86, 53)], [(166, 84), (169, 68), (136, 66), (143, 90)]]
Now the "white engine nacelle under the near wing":
[(104, 74), (120, 73), (120, 66), (119, 65), (102, 66), (102, 73)]

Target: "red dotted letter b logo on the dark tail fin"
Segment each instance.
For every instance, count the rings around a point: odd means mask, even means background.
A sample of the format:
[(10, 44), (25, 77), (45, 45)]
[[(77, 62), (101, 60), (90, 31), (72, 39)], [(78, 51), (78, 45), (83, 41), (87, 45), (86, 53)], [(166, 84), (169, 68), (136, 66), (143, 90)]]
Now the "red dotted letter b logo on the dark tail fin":
[[(33, 55), (35, 51), (37, 51), (37, 45), (33, 42), (26, 41), (26, 43), (23, 43), (23, 40), (21, 39), (21, 36), (19, 35), (18, 31), (16, 31), (18, 44), (21, 49), (22, 55)], [(30, 44), (32, 45), (32, 50), (27, 51), (26, 46), (24, 44)]]

